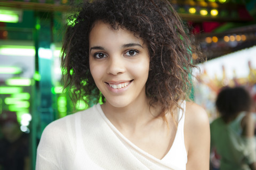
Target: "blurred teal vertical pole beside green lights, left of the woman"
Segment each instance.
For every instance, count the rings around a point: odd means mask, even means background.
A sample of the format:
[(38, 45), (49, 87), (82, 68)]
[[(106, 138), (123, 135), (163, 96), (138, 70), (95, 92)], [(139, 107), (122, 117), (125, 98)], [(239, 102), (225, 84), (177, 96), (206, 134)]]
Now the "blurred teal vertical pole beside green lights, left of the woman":
[(54, 120), (52, 109), (52, 12), (35, 12), (35, 85), (31, 124), (31, 163), (35, 169), (36, 149), (45, 126)]

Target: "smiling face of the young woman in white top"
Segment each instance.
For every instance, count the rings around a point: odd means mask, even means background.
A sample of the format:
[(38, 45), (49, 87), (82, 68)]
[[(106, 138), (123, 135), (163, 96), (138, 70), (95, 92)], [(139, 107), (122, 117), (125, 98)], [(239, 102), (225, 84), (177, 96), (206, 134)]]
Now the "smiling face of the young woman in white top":
[(89, 35), (90, 71), (106, 104), (125, 107), (146, 100), (148, 47), (125, 29), (98, 21)]

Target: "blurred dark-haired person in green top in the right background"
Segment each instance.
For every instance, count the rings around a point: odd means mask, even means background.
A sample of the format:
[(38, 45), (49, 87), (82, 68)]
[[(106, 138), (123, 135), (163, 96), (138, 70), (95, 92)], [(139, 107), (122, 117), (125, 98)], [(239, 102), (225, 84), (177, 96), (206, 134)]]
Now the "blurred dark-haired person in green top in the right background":
[(252, 104), (242, 87), (225, 87), (217, 96), (220, 117), (210, 125), (211, 151), (220, 156), (221, 170), (256, 169)]

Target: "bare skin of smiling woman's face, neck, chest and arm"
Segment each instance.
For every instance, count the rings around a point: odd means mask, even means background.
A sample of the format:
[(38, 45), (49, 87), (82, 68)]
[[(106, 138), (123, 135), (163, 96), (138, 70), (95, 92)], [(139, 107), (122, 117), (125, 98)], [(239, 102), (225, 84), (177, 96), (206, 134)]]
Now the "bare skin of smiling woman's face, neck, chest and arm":
[[(149, 105), (147, 44), (134, 33), (97, 21), (89, 35), (92, 77), (106, 98), (101, 108), (109, 121), (134, 145), (162, 159), (170, 150), (176, 127), (170, 113), (158, 116), (161, 105)], [(113, 84), (129, 82), (125, 88)], [(178, 120), (177, 115), (174, 119)], [(205, 111), (187, 102), (185, 118), (187, 169), (209, 169), (210, 128)], [(156, 149), (157, 148), (157, 149)]]

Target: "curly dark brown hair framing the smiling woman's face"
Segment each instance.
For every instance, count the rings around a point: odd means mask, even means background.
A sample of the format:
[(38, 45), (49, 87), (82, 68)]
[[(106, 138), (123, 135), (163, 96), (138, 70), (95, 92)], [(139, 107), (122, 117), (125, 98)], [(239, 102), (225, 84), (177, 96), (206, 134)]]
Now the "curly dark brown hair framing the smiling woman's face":
[[(94, 0), (79, 5), (74, 21), (67, 27), (62, 47), (62, 80), (70, 86), (74, 101), (98, 102), (102, 96), (89, 68), (89, 33), (95, 21), (108, 23), (113, 29), (125, 28), (147, 43), (150, 71), (146, 95), (150, 105), (162, 104), (163, 113), (179, 107), (190, 94), (190, 73), (195, 67), (192, 54), (198, 54), (194, 36), (182, 22), (169, 1), (165, 0)], [(175, 107), (176, 106), (176, 107)]]

